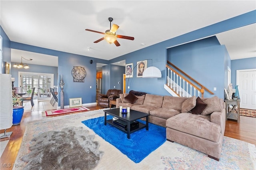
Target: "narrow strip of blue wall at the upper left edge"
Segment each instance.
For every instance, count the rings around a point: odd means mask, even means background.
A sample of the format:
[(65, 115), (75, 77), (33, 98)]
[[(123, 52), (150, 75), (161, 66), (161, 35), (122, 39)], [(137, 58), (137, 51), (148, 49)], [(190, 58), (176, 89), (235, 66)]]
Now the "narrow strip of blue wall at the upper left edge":
[[(3, 51), (2, 51), (2, 73), (5, 73), (5, 65), (4, 62), (8, 62), (11, 63), (11, 41), (8, 38), (8, 36), (6, 35), (6, 33), (4, 32), (2, 26), (0, 26), (0, 35), (2, 37), (2, 47), (3, 47)], [(10, 71), (11, 71), (11, 67), (10, 67)]]

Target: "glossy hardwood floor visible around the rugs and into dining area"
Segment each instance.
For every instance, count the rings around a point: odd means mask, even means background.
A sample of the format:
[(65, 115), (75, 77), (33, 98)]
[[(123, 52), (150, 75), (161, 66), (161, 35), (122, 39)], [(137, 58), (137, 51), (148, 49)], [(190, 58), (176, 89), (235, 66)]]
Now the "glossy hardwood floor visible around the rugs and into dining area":
[[(52, 107), (50, 104), (47, 105), (45, 103), (47, 102), (36, 101), (34, 107), (31, 107), (29, 103), (26, 103), (24, 107), (25, 112), (20, 125), (12, 126), (11, 128), (7, 129), (7, 132), (12, 131), (13, 133), (10, 138), (0, 140), (10, 140), (1, 156), (1, 170), (12, 169), (14, 161), (20, 149), (20, 144), (22, 142), (22, 136), (25, 131), (26, 123), (28, 123), (29, 121), (42, 119), (42, 111), (44, 110), (56, 109), (56, 106)], [(91, 111), (102, 109), (102, 107), (99, 107), (98, 105), (88, 105), (86, 107)], [(1, 130), (0, 132), (3, 133), (4, 130)], [(240, 116), (240, 123), (237, 123), (234, 120), (226, 121), (226, 130), (224, 136), (256, 144), (256, 118)]]

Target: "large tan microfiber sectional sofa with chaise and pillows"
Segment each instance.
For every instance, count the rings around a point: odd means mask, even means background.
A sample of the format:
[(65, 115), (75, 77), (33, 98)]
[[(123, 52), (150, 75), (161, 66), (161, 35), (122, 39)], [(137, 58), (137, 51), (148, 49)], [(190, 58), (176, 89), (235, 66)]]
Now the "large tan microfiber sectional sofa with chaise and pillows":
[(150, 123), (166, 127), (167, 140), (219, 160), (226, 125), (223, 99), (130, 93), (120, 94), (116, 106), (149, 113)]

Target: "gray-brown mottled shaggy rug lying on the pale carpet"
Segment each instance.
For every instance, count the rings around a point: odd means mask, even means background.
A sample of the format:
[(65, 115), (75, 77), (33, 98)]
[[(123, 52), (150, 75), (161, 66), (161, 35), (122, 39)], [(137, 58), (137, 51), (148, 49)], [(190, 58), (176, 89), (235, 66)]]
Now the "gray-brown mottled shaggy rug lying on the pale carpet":
[(25, 170), (90, 170), (103, 152), (94, 135), (82, 127), (47, 131), (32, 138), (30, 152), (22, 157)]

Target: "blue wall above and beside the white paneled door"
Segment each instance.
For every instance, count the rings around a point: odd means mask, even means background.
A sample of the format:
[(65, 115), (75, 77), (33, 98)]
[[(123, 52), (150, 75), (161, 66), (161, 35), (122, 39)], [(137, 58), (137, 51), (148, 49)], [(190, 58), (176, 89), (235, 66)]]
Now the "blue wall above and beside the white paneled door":
[(231, 60), (231, 83), (236, 86), (236, 70), (256, 69), (256, 57)]

